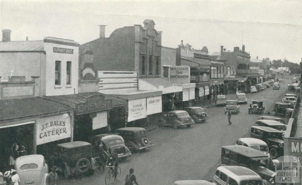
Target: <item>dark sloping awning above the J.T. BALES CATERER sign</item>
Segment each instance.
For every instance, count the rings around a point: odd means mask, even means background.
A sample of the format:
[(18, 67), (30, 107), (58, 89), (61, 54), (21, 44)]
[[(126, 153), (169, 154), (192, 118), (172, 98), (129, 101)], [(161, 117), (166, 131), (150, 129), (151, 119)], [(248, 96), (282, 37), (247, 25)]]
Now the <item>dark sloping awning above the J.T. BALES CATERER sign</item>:
[(0, 121), (65, 113), (71, 107), (41, 97), (0, 100)]

